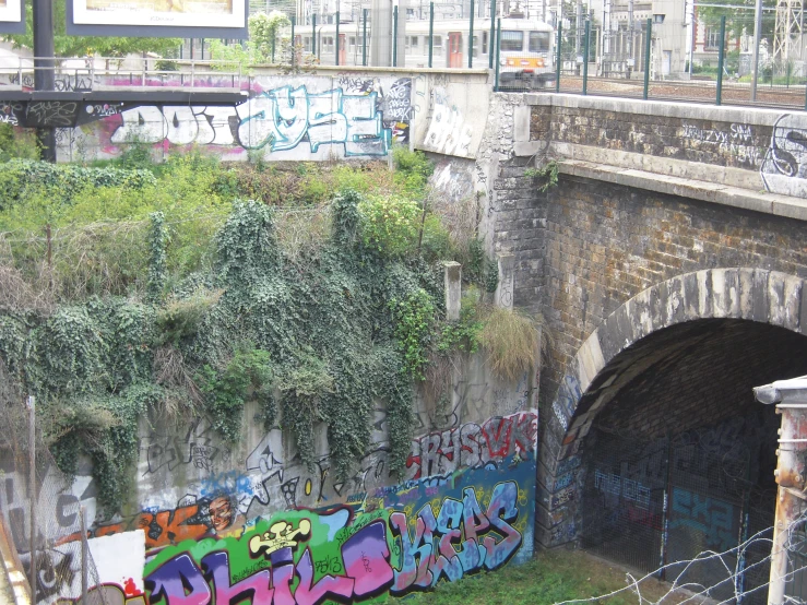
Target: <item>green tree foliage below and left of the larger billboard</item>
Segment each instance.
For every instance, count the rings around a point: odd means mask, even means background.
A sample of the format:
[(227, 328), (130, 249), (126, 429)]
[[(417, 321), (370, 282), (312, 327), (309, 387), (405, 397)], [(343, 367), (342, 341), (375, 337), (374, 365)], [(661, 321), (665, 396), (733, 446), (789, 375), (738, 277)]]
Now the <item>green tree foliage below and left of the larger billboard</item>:
[[(34, 48), (33, 2), (25, 7), (25, 34), (5, 36), (14, 48)], [(178, 48), (178, 38), (129, 38), (107, 36), (69, 36), (64, 0), (54, 0), (54, 51), (57, 57), (126, 57), (130, 54), (154, 52), (165, 56)]]

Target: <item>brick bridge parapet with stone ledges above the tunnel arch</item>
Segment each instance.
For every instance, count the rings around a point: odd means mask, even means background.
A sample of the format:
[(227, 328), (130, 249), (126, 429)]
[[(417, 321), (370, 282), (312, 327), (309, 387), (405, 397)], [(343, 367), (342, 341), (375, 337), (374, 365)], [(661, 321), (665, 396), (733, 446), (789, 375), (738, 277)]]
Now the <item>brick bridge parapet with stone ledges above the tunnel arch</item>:
[(807, 220), (807, 115), (525, 95), (514, 152), (561, 173)]

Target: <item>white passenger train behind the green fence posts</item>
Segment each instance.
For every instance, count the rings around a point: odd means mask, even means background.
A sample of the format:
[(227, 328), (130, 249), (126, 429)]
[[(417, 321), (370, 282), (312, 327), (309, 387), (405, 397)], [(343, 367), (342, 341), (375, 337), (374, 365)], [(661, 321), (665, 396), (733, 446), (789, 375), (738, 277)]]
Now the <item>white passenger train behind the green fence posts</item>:
[[(468, 68), (468, 51), (474, 68), (489, 66), (490, 19), (474, 20), (473, 44), (468, 45), (468, 20), (435, 20), (431, 67), (438, 69)], [(297, 48), (310, 55), (312, 28), (305, 25), (295, 32)], [(370, 24), (367, 29), (367, 64), (370, 64)], [(336, 64), (336, 24), (317, 25), (316, 55), (320, 64)], [(361, 66), (364, 60), (364, 24), (340, 23), (339, 64)], [(429, 22), (406, 21), (404, 44), (396, 49), (407, 68), (429, 64)], [(553, 48), (555, 31), (550, 25), (521, 15), (501, 19), (499, 40), (499, 88), (533, 90), (553, 85), (555, 81)]]

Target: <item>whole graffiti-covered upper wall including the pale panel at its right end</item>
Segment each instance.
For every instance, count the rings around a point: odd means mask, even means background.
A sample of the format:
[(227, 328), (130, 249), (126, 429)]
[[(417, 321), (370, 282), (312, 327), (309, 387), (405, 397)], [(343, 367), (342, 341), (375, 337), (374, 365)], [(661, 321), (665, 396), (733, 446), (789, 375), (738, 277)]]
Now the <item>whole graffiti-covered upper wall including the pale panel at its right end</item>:
[[(75, 128), (57, 129), (58, 159), (111, 158), (132, 144), (151, 146), (155, 156), (202, 145), (226, 161), (384, 157), (393, 144), (474, 157), (482, 133), (471, 124), (486, 117), (486, 79), (479, 70), (258, 70), (236, 105), (86, 105)], [(93, 84), (115, 90), (129, 80), (105, 75)], [(219, 85), (211, 76), (211, 90)], [(16, 123), (21, 110), (5, 104), (2, 115)]]

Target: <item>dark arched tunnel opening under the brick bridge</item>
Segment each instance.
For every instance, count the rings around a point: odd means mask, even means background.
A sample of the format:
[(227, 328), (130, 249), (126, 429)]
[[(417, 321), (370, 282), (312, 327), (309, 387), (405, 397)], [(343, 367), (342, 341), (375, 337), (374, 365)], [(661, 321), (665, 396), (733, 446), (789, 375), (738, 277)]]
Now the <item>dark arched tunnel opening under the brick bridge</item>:
[[(766, 603), (780, 418), (751, 389), (806, 369), (807, 337), (735, 319), (677, 324), (617, 355), (586, 392), (602, 401), (581, 450), (582, 546), (644, 572), (669, 566), (664, 579), (684, 572), (719, 601), (739, 590)], [(728, 554), (676, 564), (704, 551)]]

